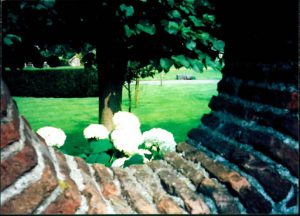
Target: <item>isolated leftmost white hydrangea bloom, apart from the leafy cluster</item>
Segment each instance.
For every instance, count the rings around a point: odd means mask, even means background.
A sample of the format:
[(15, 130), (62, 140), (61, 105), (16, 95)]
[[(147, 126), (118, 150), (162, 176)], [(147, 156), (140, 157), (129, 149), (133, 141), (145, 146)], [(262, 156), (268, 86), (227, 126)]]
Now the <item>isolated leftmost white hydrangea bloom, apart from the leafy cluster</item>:
[(61, 147), (67, 138), (63, 130), (49, 126), (38, 129), (37, 134), (43, 137), (49, 146)]

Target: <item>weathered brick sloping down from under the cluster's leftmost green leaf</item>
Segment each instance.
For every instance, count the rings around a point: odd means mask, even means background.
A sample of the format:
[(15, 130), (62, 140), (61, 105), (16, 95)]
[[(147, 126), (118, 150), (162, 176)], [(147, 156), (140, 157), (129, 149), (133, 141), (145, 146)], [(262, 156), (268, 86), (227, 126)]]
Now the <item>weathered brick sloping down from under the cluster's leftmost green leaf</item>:
[(95, 170), (95, 178), (99, 183), (102, 195), (110, 200), (113, 208), (117, 214), (132, 214), (133, 211), (121, 196), (121, 191), (114, 183), (114, 177), (111, 175), (112, 171), (102, 164), (93, 164)]

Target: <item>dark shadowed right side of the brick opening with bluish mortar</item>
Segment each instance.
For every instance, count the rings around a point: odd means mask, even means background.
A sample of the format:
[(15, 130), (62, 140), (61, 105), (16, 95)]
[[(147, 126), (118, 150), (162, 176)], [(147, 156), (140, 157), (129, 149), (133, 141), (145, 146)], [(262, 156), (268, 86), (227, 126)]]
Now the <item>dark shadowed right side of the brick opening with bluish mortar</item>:
[(297, 2), (225, 5), (223, 78), (189, 143), (249, 176), (276, 206), (298, 193)]

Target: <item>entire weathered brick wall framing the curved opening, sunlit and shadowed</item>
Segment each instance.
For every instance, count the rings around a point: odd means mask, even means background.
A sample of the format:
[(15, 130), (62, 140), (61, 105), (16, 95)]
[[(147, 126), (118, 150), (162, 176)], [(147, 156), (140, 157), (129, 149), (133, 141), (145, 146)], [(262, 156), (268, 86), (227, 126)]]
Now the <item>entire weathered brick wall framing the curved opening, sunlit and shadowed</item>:
[[(251, 13), (219, 13), (226, 66), (212, 111), (161, 161), (106, 168), (46, 146), (1, 80), (1, 214), (298, 213), (297, 40), (285, 26), (293, 3), (249, 2), (235, 6)], [(265, 27), (267, 15), (276, 24)]]

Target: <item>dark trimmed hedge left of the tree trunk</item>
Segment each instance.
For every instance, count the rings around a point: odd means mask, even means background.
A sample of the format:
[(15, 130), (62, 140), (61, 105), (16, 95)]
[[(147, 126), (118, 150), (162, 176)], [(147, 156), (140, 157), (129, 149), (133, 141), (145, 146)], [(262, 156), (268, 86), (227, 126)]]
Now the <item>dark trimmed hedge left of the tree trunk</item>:
[(14, 96), (93, 97), (98, 92), (98, 74), (92, 67), (4, 70), (2, 76)]

